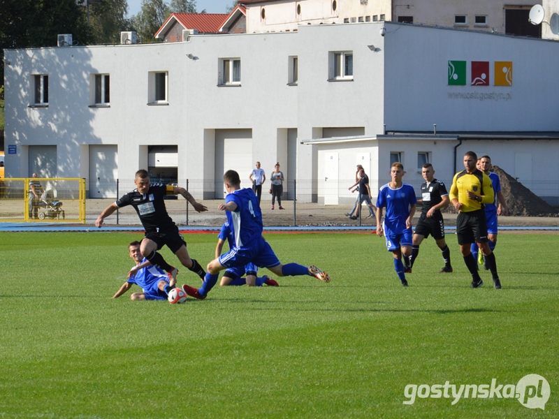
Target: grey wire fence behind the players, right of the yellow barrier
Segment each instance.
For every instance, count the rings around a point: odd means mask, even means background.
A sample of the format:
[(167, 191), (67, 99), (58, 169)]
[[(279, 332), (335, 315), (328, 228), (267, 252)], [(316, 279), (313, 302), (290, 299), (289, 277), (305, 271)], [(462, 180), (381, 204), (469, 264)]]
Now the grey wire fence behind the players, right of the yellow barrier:
[[(153, 179), (152, 182), (157, 182)], [(389, 182), (389, 179), (372, 179), (370, 188), (372, 203), (376, 204), (379, 187)], [(279, 203), (275, 202), (272, 210), (272, 194), (270, 182), (263, 185), (261, 195), (261, 210), (264, 226), (376, 226), (375, 216), (367, 218), (370, 212), (365, 203), (356, 220), (349, 219), (346, 214), (351, 212), (356, 202), (357, 193), (349, 191), (349, 186), (355, 182), (352, 179), (338, 180), (291, 180), (284, 182), (281, 204), (284, 210), (279, 210)], [(419, 196), (422, 182), (409, 182), (414, 186)], [(450, 189), (451, 181), (444, 180)], [(518, 182), (517, 182), (518, 183)], [(196, 180), (179, 179), (178, 186), (182, 186), (194, 198), (208, 207), (208, 212), (198, 213), (182, 196), (170, 196), (166, 200), (166, 207), (171, 218), (180, 226), (221, 226), (225, 221), (225, 214), (217, 210), (223, 203), (226, 194), (221, 179)], [(92, 185), (93, 186), (93, 185)], [(242, 187), (251, 187), (249, 180), (242, 181)], [(86, 223), (94, 223), (95, 219), (117, 196), (132, 191), (135, 186), (133, 179), (100, 179), (94, 185), (96, 195), (105, 193), (103, 198), (89, 198), (86, 200)], [(508, 189), (507, 189), (508, 188)], [(104, 192), (103, 192), (104, 191)], [(538, 197), (534, 192), (542, 196)], [(535, 181), (527, 184), (515, 184), (514, 187), (503, 185), (503, 194), (511, 210), (510, 216), (501, 216), (502, 226), (559, 226), (559, 182)], [(89, 191), (89, 196), (92, 192)], [(110, 196), (109, 196), (110, 195)], [(295, 199), (297, 197), (297, 199)], [(546, 202), (548, 201), (548, 202)], [(555, 203), (555, 206), (551, 204)], [(421, 208), (416, 211), (419, 217)], [(447, 226), (456, 225), (456, 212), (451, 205), (444, 214)], [(125, 207), (108, 217), (106, 224), (135, 225), (139, 223), (136, 211), (132, 207)]]

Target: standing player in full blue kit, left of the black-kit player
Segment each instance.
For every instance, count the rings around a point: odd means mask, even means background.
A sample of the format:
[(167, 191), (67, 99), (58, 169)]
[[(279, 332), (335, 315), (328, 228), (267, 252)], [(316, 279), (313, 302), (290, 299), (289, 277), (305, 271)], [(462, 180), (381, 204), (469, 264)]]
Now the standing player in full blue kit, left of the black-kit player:
[[(415, 214), (416, 196), (412, 185), (402, 182), (402, 163), (393, 163), (390, 170), (391, 182), (382, 186), (377, 197), (377, 235), (386, 237), (386, 247), (394, 256), (394, 269), (402, 286), (407, 286), (405, 258), (412, 254), (412, 217)], [(386, 208), (384, 222), (382, 209)]]

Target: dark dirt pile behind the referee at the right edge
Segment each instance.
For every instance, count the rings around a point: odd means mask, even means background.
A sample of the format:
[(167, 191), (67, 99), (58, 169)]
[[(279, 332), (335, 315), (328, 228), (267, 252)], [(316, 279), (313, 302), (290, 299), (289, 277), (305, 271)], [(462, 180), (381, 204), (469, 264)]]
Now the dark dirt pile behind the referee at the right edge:
[(557, 210), (536, 196), (530, 189), (498, 166), (493, 172), (499, 175), (501, 192), (512, 216), (558, 216)]

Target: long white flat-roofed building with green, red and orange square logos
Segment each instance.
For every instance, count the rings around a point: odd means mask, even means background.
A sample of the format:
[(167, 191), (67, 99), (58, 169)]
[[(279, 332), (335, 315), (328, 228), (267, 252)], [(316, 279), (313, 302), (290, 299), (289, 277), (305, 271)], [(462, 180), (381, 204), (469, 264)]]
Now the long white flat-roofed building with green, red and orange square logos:
[(557, 199), (530, 183), (559, 179), (554, 41), (370, 22), (5, 55), (7, 177), (86, 177), (89, 196), (114, 196), (92, 181), (150, 168), (212, 198), (224, 170), (279, 161), (313, 181), (299, 199), (333, 203), (356, 162), (384, 182), (398, 159), (410, 182), (430, 161), (449, 181), (472, 149)]

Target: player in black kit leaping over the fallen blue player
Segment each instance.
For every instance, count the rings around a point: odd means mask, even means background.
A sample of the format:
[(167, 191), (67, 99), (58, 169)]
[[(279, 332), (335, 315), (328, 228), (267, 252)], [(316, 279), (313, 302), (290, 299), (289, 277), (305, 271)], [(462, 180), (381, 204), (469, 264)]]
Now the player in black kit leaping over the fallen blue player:
[(170, 218), (165, 207), (164, 196), (166, 195), (182, 195), (197, 212), (208, 211), (204, 205), (197, 203), (186, 189), (179, 186), (170, 186), (164, 184), (150, 184), (150, 174), (147, 170), (138, 170), (134, 177), (136, 189), (126, 193), (117, 202), (106, 207), (101, 215), (95, 221), (95, 226), (101, 228), (103, 220), (117, 209), (132, 205), (140, 221), (145, 228), (145, 237), (140, 245), (140, 252), (154, 266), (168, 272), (170, 286), (175, 286), (177, 282), (177, 268), (169, 265), (157, 253), (159, 249), (167, 245), (167, 247), (177, 255), (183, 266), (204, 279), (205, 272), (196, 260), (191, 259), (187, 244), (184, 242), (182, 235), (179, 233), (178, 227)]

